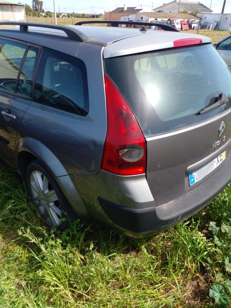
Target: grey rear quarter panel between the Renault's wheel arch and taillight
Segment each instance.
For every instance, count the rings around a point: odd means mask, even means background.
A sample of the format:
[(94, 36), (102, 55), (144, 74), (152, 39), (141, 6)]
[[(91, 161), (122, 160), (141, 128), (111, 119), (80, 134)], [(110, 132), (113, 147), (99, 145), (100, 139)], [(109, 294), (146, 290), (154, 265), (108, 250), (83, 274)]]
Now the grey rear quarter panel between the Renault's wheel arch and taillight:
[[(82, 57), (79, 59), (86, 64), (87, 83), (91, 89), (88, 114), (79, 116), (32, 102), (19, 129), (22, 138), (33, 137), (60, 160), (67, 173), (56, 176), (95, 174), (99, 172), (102, 160), (107, 128), (106, 106), (104, 90), (99, 91), (104, 89), (102, 62), (95, 62), (95, 57), (101, 58), (102, 47), (94, 45), (91, 52), (86, 44), (81, 47)], [(17, 142), (20, 143), (20, 139)], [(60, 144), (65, 146), (60, 147)]]

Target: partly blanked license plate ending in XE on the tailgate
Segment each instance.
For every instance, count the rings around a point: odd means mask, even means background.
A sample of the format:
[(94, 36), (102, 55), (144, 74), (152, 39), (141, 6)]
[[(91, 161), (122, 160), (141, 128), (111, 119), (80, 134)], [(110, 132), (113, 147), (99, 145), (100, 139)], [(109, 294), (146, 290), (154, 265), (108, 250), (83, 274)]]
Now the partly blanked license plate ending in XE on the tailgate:
[(189, 185), (192, 186), (193, 184), (199, 182), (203, 179), (206, 175), (216, 169), (222, 162), (225, 160), (225, 152), (221, 153), (221, 155), (217, 156), (214, 160), (212, 160), (209, 164), (205, 165), (204, 167), (191, 172), (188, 174)]

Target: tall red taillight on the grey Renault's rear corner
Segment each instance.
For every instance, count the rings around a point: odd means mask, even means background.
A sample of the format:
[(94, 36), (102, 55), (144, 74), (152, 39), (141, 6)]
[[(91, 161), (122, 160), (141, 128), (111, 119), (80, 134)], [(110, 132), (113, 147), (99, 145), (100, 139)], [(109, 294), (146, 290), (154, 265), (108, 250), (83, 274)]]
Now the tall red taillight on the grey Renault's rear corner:
[(104, 75), (107, 104), (107, 136), (102, 169), (119, 175), (145, 173), (146, 142), (128, 104)]

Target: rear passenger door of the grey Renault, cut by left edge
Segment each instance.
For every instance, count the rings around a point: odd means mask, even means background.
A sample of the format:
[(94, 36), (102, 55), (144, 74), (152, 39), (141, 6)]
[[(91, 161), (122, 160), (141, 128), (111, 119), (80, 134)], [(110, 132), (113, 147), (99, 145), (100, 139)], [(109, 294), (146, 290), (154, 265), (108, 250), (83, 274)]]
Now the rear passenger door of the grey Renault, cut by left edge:
[(39, 48), (0, 38), (0, 157), (14, 162), (18, 126), (31, 102)]

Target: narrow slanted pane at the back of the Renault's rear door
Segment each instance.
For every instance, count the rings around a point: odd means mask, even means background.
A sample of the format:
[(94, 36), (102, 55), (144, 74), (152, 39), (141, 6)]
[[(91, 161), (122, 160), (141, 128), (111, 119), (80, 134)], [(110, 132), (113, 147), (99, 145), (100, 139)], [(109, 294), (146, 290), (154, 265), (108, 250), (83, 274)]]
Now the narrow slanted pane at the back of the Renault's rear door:
[(25, 60), (22, 65), (22, 70), (19, 75), (17, 93), (31, 96), (34, 67), (37, 59), (38, 49), (29, 47)]

